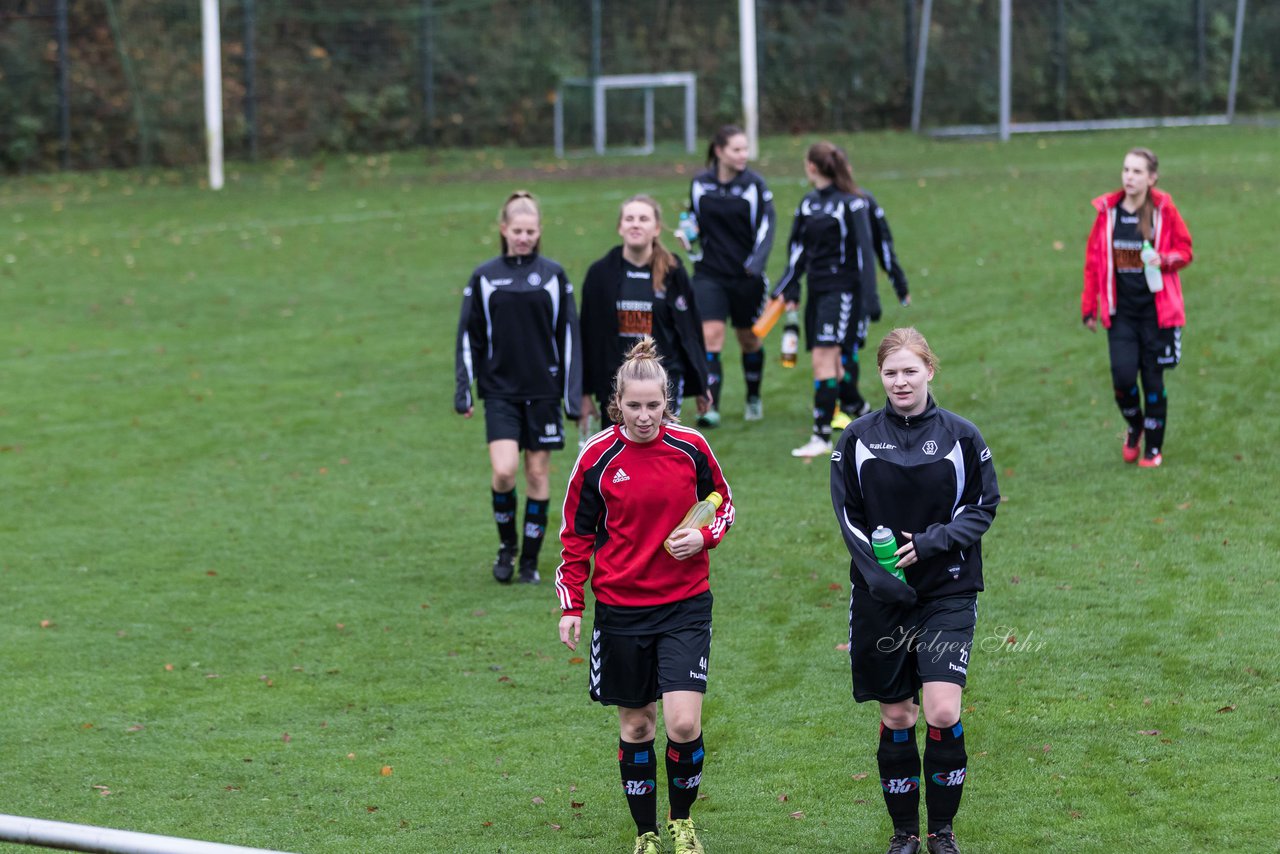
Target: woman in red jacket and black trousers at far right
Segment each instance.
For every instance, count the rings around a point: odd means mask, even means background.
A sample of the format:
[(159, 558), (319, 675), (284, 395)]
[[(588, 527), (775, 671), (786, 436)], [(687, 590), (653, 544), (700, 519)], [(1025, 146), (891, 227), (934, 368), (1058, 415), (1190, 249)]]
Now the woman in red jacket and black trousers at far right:
[[(1156, 189), (1158, 165), (1151, 150), (1130, 149), (1120, 173), (1124, 187), (1093, 200), (1098, 216), (1084, 247), (1080, 294), (1085, 328), (1097, 332), (1101, 319), (1107, 330), (1111, 384), (1129, 425), (1124, 461), (1146, 469), (1164, 461), (1165, 371), (1181, 359), (1187, 324), (1178, 271), (1192, 262), (1190, 232), (1169, 193)], [(1148, 278), (1146, 266), (1157, 266), (1158, 277)]]

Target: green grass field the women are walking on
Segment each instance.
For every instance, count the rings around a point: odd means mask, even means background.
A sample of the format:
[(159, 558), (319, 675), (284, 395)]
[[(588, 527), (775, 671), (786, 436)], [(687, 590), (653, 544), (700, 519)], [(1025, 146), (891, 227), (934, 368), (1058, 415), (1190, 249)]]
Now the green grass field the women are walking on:
[[(810, 141), (767, 140), (758, 163), (774, 277)], [(873, 344), (928, 335), (934, 394), (982, 428), (1006, 497), (961, 846), (1271, 850), (1280, 134), (837, 141), (911, 280)], [(1197, 250), (1160, 471), (1120, 462), (1105, 338), (1078, 312), (1088, 202), (1132, 145), (1160, 154)], [(453, 334), (509, 189), (540, 196), (544, 251), (580, 280), (618, 202), (673, 214), (695, 161), (490, 150), (242, 166), (220, 193), (195, 173), (0, 183), (0, 813), (307, 853), (630, 850), (614, 713), (557, 641), (552, 585), (490, 577)], [(713, 854), (882, 851), (828, 467), (787, 453), (812, 384), (769, 347), (765, 420), (736, 417), (731, 348), (710, 435), (739, 515), (712, 561), (695, 819)], [(554, 457), (553, 528), (571, 465)]]

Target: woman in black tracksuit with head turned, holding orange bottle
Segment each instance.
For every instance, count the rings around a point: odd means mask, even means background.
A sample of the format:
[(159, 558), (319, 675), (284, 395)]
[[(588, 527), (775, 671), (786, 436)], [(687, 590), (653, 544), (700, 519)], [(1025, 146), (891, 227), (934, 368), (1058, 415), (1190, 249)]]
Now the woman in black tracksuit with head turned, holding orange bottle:
[[(854, 183), (845, 152), (831, 142), (815, 142), (805, 155), (804, 169), (814, 189), (796, 207), (787, 268), (773, 294), (781, 294), (787, 307), (795, 309), (800, 277), (809, 280), (805, 347), (813, 359), (813, 435), (791, 455), (824, 457), (831, 453), (837, 401), (849, 388), (858, 396), (856, 376), (850, 375), (845, 355), (856, 359), (859, 335), (867, 335), (864, 318), (878, 319), (881, 314), (873, 257), (890, 273), (902, 305), (909, 305), (910, 297), (884, 211)], [(856, 364), (852, 367), (856, 370)]]

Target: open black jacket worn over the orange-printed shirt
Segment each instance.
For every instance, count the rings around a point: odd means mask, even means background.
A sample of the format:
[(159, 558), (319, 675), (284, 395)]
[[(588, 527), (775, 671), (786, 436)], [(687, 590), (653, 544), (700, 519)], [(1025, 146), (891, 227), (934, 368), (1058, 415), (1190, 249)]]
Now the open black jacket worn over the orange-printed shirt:
[[(685, 266), (675, 255), (671, 260), (666, 291), (653, 294), (653, 338), (667, 370), (685, 378), (685, 394), (698, 397), (707, 388), (703, 321)], [(622, 247), (614, 246), (582, 280), (582, 391), (604, 401), (613, 394), (613, 378), (626, 359), (618, 341), (621, 284)]]

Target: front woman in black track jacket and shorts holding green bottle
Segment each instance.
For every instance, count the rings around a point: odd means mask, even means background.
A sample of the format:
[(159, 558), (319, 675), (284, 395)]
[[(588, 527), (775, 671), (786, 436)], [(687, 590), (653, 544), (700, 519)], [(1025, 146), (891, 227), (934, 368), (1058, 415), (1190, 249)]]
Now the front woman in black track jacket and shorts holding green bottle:
[[(961, 691), (983, 589), (982, 535), (1000, 489), (978, 428), (929, 394), (937, 359), (924, 337), (893, 329), (877, 364), (888, 402), (845, 428), (831, 455), (831, 499), (851, 556), (854, 699), (879, 703), (877, 761), (893, 822), (890, 853), (920, 848), (923, 776), (928, 850), (957, 854), (951, 823), (968, 761)], [(905, 583), (876, 560), (872, 536), (882, 526), (899, 544), (886, 560)], [(923, 775), (915, 743), (922, 705)]]

